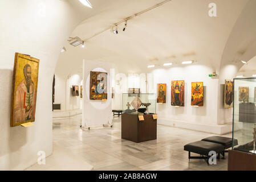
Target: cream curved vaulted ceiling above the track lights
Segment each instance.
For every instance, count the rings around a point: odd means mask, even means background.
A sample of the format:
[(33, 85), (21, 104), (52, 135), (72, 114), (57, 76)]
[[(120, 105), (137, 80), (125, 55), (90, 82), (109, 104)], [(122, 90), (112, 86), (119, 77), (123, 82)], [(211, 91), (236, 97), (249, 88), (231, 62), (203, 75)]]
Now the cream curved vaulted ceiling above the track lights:
[[(113, 23), (156, 5), (161, 0), (90, 2), (93, 9), (79, 6), (76, 2), (76, 8), (91, 11), (91, 14), (75, 28), (71, 36), (90, 38)], [(211, 2), (217, 5), (217, 17), (208, 15)], [(123, 73), (148, 72), (149, 64), (160, 66), (171, 61), (176, 66), (181, 61), (192, 59), (218, 69), (226, 61), (238, 59), (235, 53), (246, 48), (249, 51), (253, 47), (255, 18), (250, 18), (250, 21), (246, 18), (255, 16), (255, 2), (207, 0), (195, 3), (191, 0), (172, 0), (128, 20), (124, 32), (124, 24), (120, 24), (118, 35), (108, 30), (95, 36), (86, 42), (86, 48), (72, 47), (66, 43), (64, 46), (67, 51), (60, 54), (55, 72), (67, 75), (78, 72), (83, 59), (115, 63), (119, 72)], [(250, 26), (252, 28), (248, 30)], [(242, 43), (238, 45), (238, 41)]]

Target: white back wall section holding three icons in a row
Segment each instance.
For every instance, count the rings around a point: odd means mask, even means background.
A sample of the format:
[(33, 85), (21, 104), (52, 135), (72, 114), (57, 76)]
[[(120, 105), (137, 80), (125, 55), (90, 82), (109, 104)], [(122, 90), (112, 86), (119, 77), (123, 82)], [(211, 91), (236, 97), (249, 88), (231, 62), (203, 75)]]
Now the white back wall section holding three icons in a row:
[[(210, 78), (212, 68), (204, 65), (188, 65), (155, 69), (152, 71), (153, 85), (148, 80), (149, 93), (156, 93), (158, 83), (166, 85), (166, 104), (157, 104), (159, 118), (188, 123), (217, 125), (218, 79)], [(174, 80), (185, 80), (185, 106), (174, 107), (170, 104), (170, 84)], [(204, 106), (191, 106), (191, 82), (204, 82)]]

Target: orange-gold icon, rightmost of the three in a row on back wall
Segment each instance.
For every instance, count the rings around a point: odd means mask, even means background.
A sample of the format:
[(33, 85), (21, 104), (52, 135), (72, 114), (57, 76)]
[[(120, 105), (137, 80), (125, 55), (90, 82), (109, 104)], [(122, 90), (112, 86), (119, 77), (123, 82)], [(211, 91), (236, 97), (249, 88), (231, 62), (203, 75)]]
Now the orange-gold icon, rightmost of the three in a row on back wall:
[(191, 84), (191, 105), (204, 105), (204, 84), (203, 82), (192, 82)]

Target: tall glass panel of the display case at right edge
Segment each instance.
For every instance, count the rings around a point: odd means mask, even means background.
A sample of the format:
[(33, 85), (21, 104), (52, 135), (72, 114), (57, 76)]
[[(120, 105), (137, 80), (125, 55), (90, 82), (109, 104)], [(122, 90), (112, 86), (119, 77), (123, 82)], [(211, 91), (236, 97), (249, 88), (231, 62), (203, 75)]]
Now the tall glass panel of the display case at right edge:
[[(255, 152), (256, 140), (256, 78), (234, 79), (233, 150)], [(234, 142), (233, 142), (234, 143)]]

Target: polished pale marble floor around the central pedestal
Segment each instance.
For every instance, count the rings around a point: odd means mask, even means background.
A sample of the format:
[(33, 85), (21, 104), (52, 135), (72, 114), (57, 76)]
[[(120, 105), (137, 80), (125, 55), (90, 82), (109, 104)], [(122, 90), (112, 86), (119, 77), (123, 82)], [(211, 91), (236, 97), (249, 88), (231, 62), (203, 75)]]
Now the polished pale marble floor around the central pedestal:
[[(113, 127), (79, 127), (82, 115), (55, 118), (53, 127), (54, 148), (63, 148), (79, 157), (94, 170), (226, 170), (226, 159), (216, 165), (204, 159), (188, 160), (184, 144), (201, 140), (213, 134), (176, 127), (157, 125), (157, 139), (135, 143), (121, 139), (121, 119), (113, 119)], [(231, 134), (224, 135), (231, 137)], [(197, 154), (194, 154), (197, 155)]]

